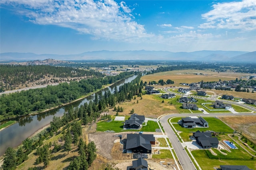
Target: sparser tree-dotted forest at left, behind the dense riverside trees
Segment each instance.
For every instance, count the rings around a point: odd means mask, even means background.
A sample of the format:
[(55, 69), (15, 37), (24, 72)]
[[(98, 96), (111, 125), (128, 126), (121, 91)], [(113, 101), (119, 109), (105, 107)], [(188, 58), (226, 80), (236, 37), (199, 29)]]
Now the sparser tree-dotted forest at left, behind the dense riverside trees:
[(50, 65), (1, 65), (0, 72), (0, 92), (45, 77), (104, 77), (102, 73), (93, 70)]

